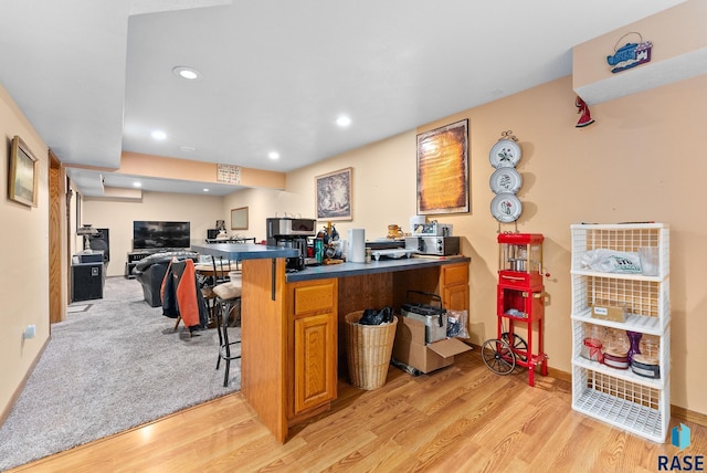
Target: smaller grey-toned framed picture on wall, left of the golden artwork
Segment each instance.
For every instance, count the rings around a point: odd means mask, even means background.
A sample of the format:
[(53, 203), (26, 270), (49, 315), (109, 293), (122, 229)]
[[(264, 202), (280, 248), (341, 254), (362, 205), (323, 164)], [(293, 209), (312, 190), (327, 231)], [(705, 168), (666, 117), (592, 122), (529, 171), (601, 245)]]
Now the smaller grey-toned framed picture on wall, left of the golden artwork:
[(346, 168), (314, 178), (317, 220), (352, 220), (352, 170)]

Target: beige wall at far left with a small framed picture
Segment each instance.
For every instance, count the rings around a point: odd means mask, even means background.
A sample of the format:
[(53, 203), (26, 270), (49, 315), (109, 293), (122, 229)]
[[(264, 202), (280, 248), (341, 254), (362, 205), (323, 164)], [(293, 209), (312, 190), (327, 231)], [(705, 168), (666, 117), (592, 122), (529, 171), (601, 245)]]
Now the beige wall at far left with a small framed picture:
[[(49, 338), (49, 188), (48, 147), (0, 85), (0, 417)], [(39, 204), (10, 201), (7, 196), (10, 141), (19, 135), (39, 159)], [(23, 339), (28, 325), (36, 336)]]

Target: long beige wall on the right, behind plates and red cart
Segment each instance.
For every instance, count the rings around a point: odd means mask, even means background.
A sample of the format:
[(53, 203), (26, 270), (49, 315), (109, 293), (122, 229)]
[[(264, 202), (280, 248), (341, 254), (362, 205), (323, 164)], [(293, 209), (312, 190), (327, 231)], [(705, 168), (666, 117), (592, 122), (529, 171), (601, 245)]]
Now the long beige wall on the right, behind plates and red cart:
[[(441, 119), (384, 141), (357, 149), (287, 175), (284, 192), (270, 191), (267, 208), (314, 214), (314, 177), (354, 168), (354, 221), (367, 236), (384, 236), (388, 223), (408, 230), (415, 212), (415, 135), (436, 126), (469, 119), (472, 210), (439, 216), (453, 223), (472, 256), (471, 329), (479, 344), (496, 336), (495, 291), (498, 224), (490, 216), (494, 195), (488, 179), (488, 151), (500, 133), (513, 130), (523, 149), (518, 170), (524, 186), (521, 232), (542, 233), (546, 280), (546, 351), (552, 368), (571, 371), (570, 230), (572, 223), (653, 220), (671, 224), (672, 403), (707, 413), (703, 362), (707, 330), (701, 307), (707, 302), (703, 269), (707, 252), (697, 250), (707, 236), (699, 209), (707, 200), (700, 180), (707, 176), (703, 156), (707, 140), (703, 111), (707, 76), (597, 105), (597, 122), (576, 128), (578, 119), (571, 77)], [(240, 195), (240, 192), (239, 192)], [(239, 206), (255, 201), (230, 196)], [(505, 224), (502, 231), (514, 231)]]

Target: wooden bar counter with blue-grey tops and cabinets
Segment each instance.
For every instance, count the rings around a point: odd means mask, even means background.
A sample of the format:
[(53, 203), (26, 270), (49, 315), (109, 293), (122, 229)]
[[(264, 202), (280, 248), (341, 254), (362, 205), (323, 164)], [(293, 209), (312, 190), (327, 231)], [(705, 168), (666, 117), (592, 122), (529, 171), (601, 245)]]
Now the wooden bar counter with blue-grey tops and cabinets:
[(341, 263), (285, 272), (296, 250), (192, 243), (202, 254), (242, 262), (241, 391), (279, 441), (289, 427), (329, 409), (346, 375), (344, 317), (389, 305), (409, 290), (440, 294), (468, 311), (468, 257)]

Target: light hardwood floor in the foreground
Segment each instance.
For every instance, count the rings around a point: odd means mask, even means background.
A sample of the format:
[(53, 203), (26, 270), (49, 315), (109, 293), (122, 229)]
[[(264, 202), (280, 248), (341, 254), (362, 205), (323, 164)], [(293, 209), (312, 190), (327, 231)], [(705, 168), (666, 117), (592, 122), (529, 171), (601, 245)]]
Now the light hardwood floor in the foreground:
[(333, 410), (284, 445), (235, 393), (13, 471), (655, 472), (658, 455), (707, 455), (705, 427), (684, 422), (679, 451), (574, 412), (567, 381), (527, 379), (495, 375), (474, 350), (430, 376), (391, 367), (373, 391), (340, 381)]

